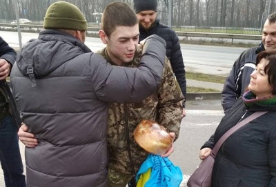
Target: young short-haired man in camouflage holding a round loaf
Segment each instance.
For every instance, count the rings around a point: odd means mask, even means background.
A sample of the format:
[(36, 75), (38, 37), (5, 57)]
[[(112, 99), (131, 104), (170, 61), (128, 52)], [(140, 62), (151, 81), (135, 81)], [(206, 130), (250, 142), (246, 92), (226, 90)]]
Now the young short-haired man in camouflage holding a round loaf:
[[(141, 46), (137, 47), (139, 25), (135, 12), (126, 3), (114, 2), (106, 7), (99, 36), (106, 48), (98, 53), (109, 63), (114, 66), (138, 66), (141, 59)], [(142, 119), (157, 121), (165, 126), (168, 132), (173, 132), (170, 135), (177, 139), (183, 101), (184, 96), (173, 75), (170, 62), (166, 59), (164, 74), (155, 94), (137, 104), (110, 104), (106, 137), (109, 187), (125, 187), (148, 156), (148, 153), (135, 143), (132, 135)], [(173, 147), (162, 156), (166, 157), (172, 151)]]

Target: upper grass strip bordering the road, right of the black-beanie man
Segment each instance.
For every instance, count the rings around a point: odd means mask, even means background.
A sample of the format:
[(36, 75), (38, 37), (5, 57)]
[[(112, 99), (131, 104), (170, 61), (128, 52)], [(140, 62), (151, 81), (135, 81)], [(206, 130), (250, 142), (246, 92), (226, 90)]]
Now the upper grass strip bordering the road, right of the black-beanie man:
[(213, 83), (224, 83), (226, 77), (217, 76), (217, 75), (208, 75), (201, 72), (186, 72), (186, 79), (213, 82)]

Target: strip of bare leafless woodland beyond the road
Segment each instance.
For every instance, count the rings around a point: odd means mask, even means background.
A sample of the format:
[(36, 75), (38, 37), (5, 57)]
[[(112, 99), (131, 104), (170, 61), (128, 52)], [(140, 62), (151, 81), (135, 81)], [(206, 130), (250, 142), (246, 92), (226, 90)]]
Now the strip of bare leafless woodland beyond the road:
[[(0, 0), (0, 21), (15, 19), (14, 0)], [(43, 21), (50, 4), (60, 0), (17, 0), (19, 17), (31, 21)], [(93, 13), (103, 9), (113, 1), (128, 3), (133, 0), (63, 0), (75, 4), (88, 22), (99, 22), (101, 16)], [(169, 0), (158, 0), (158, 18), (168, 24)], [(270, 2), (270, 6), (269, 3)], [(172, 0), (172, 26), (230, 26), (259, 28), (263, 17), (275, 11), (276, 0)], [(10, 22), (8, 22), (10, 23)]]

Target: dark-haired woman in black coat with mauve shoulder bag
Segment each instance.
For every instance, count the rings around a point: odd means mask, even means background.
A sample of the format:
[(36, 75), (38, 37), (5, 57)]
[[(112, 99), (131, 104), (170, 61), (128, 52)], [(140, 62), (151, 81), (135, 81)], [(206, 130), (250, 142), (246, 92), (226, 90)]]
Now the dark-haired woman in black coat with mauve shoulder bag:
[(200, 159), (210, 155), (227, 130), (257, 111), (268, 112), (239, 128), (219, 149), (212, 187), (276, 186), (276, 50), (259, 53), (248, 91), (221, 119), (215, 135), (201, 147)]

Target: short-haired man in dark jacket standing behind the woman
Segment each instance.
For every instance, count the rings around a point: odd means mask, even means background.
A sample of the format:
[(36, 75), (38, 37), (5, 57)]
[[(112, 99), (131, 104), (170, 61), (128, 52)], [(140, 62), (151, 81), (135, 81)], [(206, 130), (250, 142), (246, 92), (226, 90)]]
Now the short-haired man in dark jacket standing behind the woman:
[(227, 112), (244, 94), (250, 82), (250, 74), (255, 70), (256, 57), (259, 52), (276, 48), (276, 12), (268, 16), (264, 23), (262, 42), (259, 46), (249, 48), (242, 52), (233, 64), (230, 74), (226, 78), (221, 92), (221, 105)]

